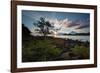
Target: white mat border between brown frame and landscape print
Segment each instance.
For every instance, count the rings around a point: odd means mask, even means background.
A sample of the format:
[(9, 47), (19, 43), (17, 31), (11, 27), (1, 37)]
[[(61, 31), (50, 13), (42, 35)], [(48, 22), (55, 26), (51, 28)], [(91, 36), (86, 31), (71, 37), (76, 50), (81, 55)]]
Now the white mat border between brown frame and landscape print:
[[(45, 9), (45, 10), (44, 10)], [(72, 60), (72, 61), (52, 61), (52, 62), (29, 62), (22, 63), (22, 10), (38, 11), (57, 11), (57, 12), (80, 12), (90, 13), (90, 59), (89, 60)], [(94, 64), (94, 10), (76, 9), (76, 8), (57, 8), (57, 7), (39, 7), (39, 6), (17, 6), (17, 68), (46, 67), (61, 65), (82, 65)]]

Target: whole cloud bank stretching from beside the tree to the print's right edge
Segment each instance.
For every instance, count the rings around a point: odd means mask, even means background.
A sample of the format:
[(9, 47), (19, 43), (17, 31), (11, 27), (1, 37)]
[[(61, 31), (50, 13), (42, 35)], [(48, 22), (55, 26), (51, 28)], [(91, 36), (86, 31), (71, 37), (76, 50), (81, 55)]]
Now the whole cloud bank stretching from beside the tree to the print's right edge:
[(54, 29), (66, 29), (66, 28), (72, 28), (74, 29), (83, 29), (89, 27), (89, 22), (82, 22), (81, 20), (77, 21), (72, 21), (69, 20), (68, 18), (63, 19), (63, 20), (58, 20), (58, 19), (46, 19), (49, 21), (53, 26)]

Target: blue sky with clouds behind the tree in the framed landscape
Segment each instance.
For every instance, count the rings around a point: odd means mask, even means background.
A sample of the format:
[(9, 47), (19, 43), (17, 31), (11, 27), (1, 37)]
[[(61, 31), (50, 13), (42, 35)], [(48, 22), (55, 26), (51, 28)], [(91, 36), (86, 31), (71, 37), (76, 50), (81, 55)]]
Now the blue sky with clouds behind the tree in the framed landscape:
[(36, 28), (33, 23), (36, 23), (40, 17), (53, 24), (54, 29), (60, 29), (57, 33), (70, 33), (72, 31), (77, 33), (90, 32), (89, 13), (22, 10), (22, 23), (31, 32), (34, 32)]

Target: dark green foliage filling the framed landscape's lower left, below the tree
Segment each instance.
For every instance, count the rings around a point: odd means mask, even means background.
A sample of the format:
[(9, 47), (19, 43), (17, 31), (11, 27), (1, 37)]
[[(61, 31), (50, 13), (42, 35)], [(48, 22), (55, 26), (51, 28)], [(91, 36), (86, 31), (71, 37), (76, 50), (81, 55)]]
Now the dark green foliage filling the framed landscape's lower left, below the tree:
[(23, 47), (23, 61), (49, 61), (61, 53), (50, 40), (28, 41)]

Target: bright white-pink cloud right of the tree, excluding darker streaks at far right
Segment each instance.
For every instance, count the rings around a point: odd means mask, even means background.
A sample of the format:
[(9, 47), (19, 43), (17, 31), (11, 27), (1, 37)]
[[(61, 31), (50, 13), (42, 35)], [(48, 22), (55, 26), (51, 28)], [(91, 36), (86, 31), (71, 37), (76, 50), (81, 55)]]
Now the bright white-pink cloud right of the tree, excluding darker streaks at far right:
[(80, 23), (73, 22), (68, 18), (63, 20), (58, 20), (58, 19), (46, 19), (46, 20), (49, 21), (54, 26), (55, 29), (66, 29), (80, 25)]

